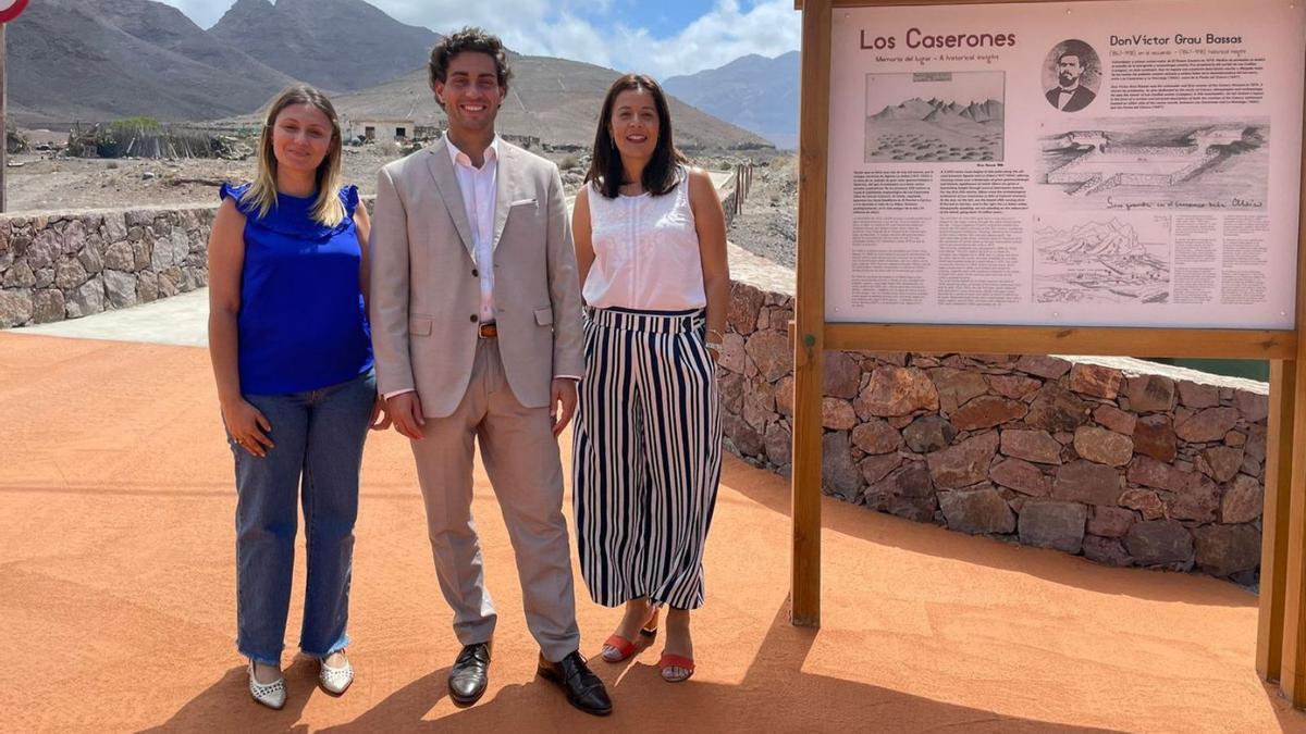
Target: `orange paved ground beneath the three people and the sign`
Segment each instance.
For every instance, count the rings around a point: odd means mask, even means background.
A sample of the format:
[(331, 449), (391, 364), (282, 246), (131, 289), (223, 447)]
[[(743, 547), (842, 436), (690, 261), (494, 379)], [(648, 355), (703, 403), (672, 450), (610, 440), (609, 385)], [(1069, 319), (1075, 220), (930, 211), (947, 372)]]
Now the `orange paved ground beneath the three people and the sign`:
[[(616, 614), (577, 585), (610, 720), (533, 677), (502, 517), (475, 512), (500, 620), (490, 690), (445, 692), (457, 644), (405, 441), (363, 468), (341, 699), (286, 656), (286, 709), (257, 707), (232, 646), (231, 455), (201, 349), (0, 333), (0, 730), (1138, 731), (1303, 730), (1252, 670), (1256, 599), (1200, 576), (1093, 566), (824, 503), (823, 627), (788, 622), (786, 481), (729, 458), (708, 543), (699, 671), (661, 645), (597, 658)], [(564, 444), (564, 456), (568, 447)], [(302, 551), (300, 551), (302, 554)], [(302, 594), (302, 555), (295, 596)], [(291, 609), (287, 649), (298, 635)]]

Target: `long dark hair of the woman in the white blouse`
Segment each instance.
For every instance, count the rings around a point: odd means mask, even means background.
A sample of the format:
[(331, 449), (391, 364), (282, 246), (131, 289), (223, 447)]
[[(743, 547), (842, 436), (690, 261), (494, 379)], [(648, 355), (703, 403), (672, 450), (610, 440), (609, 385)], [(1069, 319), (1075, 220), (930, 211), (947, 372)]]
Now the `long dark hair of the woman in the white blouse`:
[(661, 196), (679, 183), (678, 165), (684, 163), (684, 155), (675, 149), (671, 138), (671, 111), (666, 103), (666, 94), (652, 77), (646, 74), (626, 74), (613, 82), (603, 98), (603, 110), (598, 114), (598, 131), (594, 133), (594, 150), (590, 154), (589, 172), (585, 174), (585, 183), (594, 182), (598, 192), (607, 199), (616, 199), (622, 191), (624, 167), (622, 155), (616, 152), (616, 142), (613, 141), (611, 119), (613, 107), (616, 106), (616, 97), (623, 91), (646, 91), (653, 98), (657, 108), (657, 144), (653, 146), (653, 158), (644, 167), (640, 183), (644, 191), (653, 196)]

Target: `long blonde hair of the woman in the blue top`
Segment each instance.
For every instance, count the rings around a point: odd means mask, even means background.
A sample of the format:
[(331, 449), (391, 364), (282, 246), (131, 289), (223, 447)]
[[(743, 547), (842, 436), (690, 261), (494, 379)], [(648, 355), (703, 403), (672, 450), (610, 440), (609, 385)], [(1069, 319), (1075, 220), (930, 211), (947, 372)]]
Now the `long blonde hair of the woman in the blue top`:
[(259, 217), (266, 217), (277, 208), (277, 155), (272, 149), (273, 127), (277, 116), (291, 104), (308, 104), (321, 110), (330, 120), (332, 141), (326, 150), (326, 157), (317, 165), (317, 199), (313, 201), (313, 221), (328, 227), (334, 227), (345, 218), (345, 205), (340, 200), (341, 188), (341, 135), (340, 118), (336, 107), (326, 97), (308, 85), (295, 85), (282, 91), (272, 107), (268, 108), (268, 119), (263, 124), (263, 135), (259, 137), (259, 168), (255, 172), (253, 183), (240, 197), (242, 204), (252, 205)]

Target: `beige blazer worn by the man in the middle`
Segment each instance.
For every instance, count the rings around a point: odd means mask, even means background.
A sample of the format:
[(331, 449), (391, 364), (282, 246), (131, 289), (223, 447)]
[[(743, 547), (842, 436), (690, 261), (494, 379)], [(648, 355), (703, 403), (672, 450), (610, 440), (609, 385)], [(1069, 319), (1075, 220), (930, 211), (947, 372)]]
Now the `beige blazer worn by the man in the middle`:
[[(558, 166), (503, 141), (496, 187), (499, 351), (517, 401), (543, 407), (555, 376), (585, 374), (567, 202)], [(443, 138), (377, 175), (370, 266), (379, 392), (415, 389), (427, 417), (452, 414), (471, 377), (481, 281)]]

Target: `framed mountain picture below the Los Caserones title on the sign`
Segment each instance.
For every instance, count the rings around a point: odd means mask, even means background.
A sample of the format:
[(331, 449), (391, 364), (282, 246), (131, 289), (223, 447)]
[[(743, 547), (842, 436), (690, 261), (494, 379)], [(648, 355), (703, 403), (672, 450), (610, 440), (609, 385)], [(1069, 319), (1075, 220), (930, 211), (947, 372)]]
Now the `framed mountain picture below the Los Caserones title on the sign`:
[(1003, 159), (1004, 72), (866, 74), (867, 163)]

